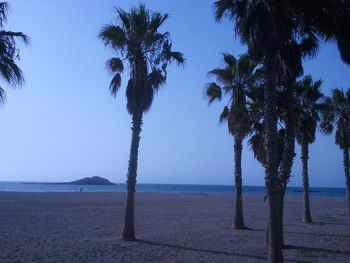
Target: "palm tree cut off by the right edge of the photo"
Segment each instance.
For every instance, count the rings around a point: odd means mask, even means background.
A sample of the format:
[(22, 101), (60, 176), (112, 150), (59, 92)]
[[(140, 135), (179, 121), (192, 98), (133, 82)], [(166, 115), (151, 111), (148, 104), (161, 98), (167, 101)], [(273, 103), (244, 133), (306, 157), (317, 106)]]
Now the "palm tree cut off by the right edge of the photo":
[(335, 129), (335, 143), (343, 151), (343, 165), (346, 180), (348, 214), (350, 215), (350, 89), (334, 89), (331, 98), (326, 99), (326, 109), (323, 112), (321, 130), (332, 134)]

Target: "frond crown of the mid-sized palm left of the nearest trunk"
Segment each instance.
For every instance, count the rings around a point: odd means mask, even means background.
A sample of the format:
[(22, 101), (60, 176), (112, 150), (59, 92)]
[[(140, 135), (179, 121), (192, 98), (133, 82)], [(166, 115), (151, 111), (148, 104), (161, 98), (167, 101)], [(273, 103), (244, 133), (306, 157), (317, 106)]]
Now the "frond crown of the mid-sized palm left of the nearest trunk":
[(228, 121), (229, 132), (243, 139), (250, 132), (250, 117), (246, 105), (246, 93), (250, 86), (258, 81), (257, 64), (247, 54), (238, 59), (223, 53), (223, 68), (215, 68), (208, 72), (216, 82), (205, 88), (205, 97), (211, 104), (221, 100), (222, 95), (229, 96), (228, 106), (220, 115), (220, 122)]

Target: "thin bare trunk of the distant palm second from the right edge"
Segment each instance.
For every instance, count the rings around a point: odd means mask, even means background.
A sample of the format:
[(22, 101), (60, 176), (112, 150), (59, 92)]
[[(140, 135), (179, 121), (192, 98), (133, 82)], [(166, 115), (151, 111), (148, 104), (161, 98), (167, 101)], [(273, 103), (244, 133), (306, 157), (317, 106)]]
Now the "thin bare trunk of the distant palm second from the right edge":
[(303, 186), (304, 186), (304, 217), (303, 220), (306, 223), (311, 223), (311, 211), (310, 211), (310, 198), (309, 198), (309, 144), (306, 139), (301, 139), (301, 161), (303, 166)]

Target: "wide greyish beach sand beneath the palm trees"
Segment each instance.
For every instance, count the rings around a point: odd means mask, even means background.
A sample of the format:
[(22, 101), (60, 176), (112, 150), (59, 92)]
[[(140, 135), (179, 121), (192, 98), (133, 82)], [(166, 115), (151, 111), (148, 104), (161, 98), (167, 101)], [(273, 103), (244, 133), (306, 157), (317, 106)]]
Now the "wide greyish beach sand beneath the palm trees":
[[(266, 262), (267, 203), (244, 196), (250, 230), (233, 230), (233, 195), (136, 193), (139, 241), (119, 238), (123, 193), (0, 193), (0, 262)], [(286, 198), (285, 262), (350, 262), (345, 198)]]

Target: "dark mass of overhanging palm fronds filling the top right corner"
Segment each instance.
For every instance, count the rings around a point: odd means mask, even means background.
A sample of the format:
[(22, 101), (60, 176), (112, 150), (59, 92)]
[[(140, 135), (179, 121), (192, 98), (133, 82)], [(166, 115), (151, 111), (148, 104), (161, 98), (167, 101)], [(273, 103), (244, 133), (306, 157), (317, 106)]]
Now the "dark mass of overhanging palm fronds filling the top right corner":
[(228, 17), (236, 34), (259, 61), (276, 57), (279, 69), (294, 80), (302, 74), (302, 57), (314, 56), (319, 39), (336, 40), (350, 64), (350, 1), (218, 0), (218, 21)]

